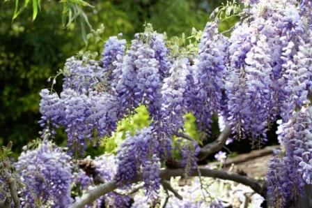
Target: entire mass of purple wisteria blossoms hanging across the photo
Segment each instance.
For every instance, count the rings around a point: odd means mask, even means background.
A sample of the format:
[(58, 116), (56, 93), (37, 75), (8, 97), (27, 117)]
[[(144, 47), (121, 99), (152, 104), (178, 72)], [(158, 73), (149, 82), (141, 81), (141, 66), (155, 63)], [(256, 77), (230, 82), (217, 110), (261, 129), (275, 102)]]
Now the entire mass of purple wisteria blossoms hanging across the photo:
[[(219, 122), (231, 126), (234, 138), (249, 138), (254, 146), (267, 142), (267, 130), (280, 118), (281, 150), (269, 163), (268, 201), (272, 207), (287, 207), (297, 200), (312, 177), (312, 3), (243, 3), (242, 19), (231, 36), (219, 33), (218, 20), (208, 22), (192, 54), (171, 56), (166, 36), (148, 25), (128, 49), (119, 35), (107, 40), (99, 61), (88, 56), (68, 59), (61, 93), (40, 92), (44, 142), (23, 153), (17, 163), (29, 190), (23, 192), (23, 205), (33, 206), (37, 199), (52, 207), (70, 204), (72, 179), (80, 181), (82, 191), (94, 188), (84, 172), (71, 173), (70, 156), (46, 141), (57, 128), (65, 129), (68, 154), (82, 156), (89, 142), (97, 145), (114, 133), (117, 121), (139, 105), (148, 108), (151, 124), (127, 132), (114, 161), (95, 158), (95, 170), (104, 181), (116, 179), (129, 191), (132, 181), (142, 177), (148, 205), (157, 203), (159, 171), (172, 156), (171, 138), (183, 133), (185, 114), (194, 114), (207, 137), (212, 115), (219, 114)], [(187, 175), (196, 170), (200, 146), (196, 141), (181, 144), (176, 160)], [(116, 163), (111, 172), (108, 163)], [(98, 206), (102, 203), (128, 206), (130, 198), (114, 192), (100, 198)], [(133, 206), (144, 203), (136, 200)], [(187, 203), (181, 207), (201, 207)], [(222, 206), (215, 200), (210, 207)]]

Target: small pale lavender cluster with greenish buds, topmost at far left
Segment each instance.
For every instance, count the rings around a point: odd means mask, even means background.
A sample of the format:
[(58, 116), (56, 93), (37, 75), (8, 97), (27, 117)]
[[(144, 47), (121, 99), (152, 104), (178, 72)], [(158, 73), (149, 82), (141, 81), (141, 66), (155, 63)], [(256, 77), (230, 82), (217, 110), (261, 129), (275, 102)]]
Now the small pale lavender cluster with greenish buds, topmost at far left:
[(72, 89), (85, 93), (98, 84), (102, 84), (102, 88), (107, 87), (104, 82), (104, 70), (99, 61), (88, 57), (83, 57), (81, 60), (75, 57), (67, 59), (63, 75), (63, 90)]

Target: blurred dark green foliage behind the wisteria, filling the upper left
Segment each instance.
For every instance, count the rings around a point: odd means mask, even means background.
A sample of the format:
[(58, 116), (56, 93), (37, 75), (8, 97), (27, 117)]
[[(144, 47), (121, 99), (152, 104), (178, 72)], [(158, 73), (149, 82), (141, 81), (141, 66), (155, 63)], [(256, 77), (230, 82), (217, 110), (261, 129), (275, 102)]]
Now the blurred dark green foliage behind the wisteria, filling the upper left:
[[(145, 22), (169, 37), (189, 35), (192, 27), (203, 29), (212, 10), (224, 1), (87, 1), (93, 7), (79, 2), (31, 0), (13, 20), (18, 1), (0, 0), (0, 145), (12, 140), (13, 150), (19, 152), (38, 137), (39, 92), (50, 86), (48, 77), (56, 75), (68, 57), (79, 50), (100, 53), (104, 40), (119, 33), (130, 41), (143, 31)], [(22, 8), (23, 3), (17, 6)], [(34, 3), (38, 3), (35, 20)], [(72, 21), (75, 14), (70, 16), (68, 9), (78, 14)], [(91, 38), (88, 45), (84, 40), (91, 28), (86, 17), (95, 31), (104, 25), (104, 34)]]

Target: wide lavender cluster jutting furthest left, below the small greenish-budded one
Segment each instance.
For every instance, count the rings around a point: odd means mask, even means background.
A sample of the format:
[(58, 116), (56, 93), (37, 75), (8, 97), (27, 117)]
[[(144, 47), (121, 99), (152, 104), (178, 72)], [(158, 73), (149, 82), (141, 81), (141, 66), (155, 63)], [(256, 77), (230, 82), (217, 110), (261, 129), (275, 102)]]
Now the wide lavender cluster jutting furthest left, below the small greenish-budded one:
[(93, 139), (94, 130), (95, 138), (100, 138), (116, 128), (118, 101), (115, 96), (97, 91), (80, 94), (72, 89), (63, 90), (60, 97), (42, 89), (40, 96), (40, 124), (52, 129), (64, 126), (72, 152), (85, 149), (86, 138)]

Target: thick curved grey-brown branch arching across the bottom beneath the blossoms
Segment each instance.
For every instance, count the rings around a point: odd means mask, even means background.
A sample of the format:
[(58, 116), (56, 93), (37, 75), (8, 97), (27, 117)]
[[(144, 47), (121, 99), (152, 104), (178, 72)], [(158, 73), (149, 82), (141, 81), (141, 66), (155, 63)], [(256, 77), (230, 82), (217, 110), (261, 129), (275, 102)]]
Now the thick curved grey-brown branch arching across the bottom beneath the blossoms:
[[(160, 171), (161, 179), (179, 177), (183, 176), (184, 174), (185, 170), (182, 168), (164, 169)], [(266, 195), (267, 184), (266, 181), (263, 180), (251, 179), (249, 177), (235, 174), (233, 172), (226, 172), (223, 170), (211, 170), (209, 168), (198, 168), (198, 171), (194, 170), (193, 172), (190, 172), (189, 176), (198, 176), (198, 174), (201, 174), (201, 177), (212, 177), (216, 179), (235, 181), (237, 183), (251, 187), (253, 191), (259, 193), (260, 195), (263, 195), (264, 197)], [(132, 181), (132, 183), (137, 183), (139, 181), (141, 181), (141, 179), (135, 179)], [(80, 208), (84, 207), (84, 205), (91, 204), (96, 199), (100, 198), (101, 195), (105, 195), (111, 191), (114, 191), (116, 188), (118, 188), (117, 181), (110, 181), (106, 184), (101, 184), (100, 186), (97, 186), (96, 188), (82, 195), (79, 200), (77, 200), (74, 204), (70, 206), (70, 208)]]

